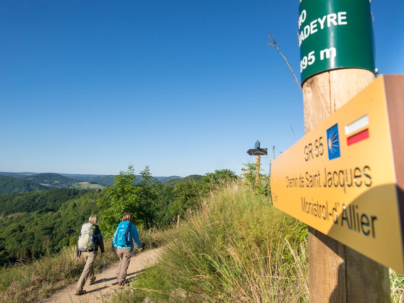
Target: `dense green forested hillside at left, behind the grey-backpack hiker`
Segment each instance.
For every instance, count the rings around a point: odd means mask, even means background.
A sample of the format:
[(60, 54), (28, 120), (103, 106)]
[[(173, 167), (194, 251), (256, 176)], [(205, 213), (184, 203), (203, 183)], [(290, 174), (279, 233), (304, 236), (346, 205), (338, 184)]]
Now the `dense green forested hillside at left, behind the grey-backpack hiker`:
[(76, 243), (81, 225), (100, 212), (99, 194), (61, 188), (0, 196), (0, 266)]

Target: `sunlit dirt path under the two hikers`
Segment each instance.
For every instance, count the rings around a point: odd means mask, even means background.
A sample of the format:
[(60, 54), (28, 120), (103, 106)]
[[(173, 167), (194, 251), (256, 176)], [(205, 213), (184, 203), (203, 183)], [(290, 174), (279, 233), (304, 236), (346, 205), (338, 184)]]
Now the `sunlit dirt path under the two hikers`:
[[(147, 267), (155, 264), (159, 260), (159, 251), (161, 248), (145, 250), (136, 256), (132, 256), (128, 268), (127, 279), (133, 280), (136, 276)], [(46, 299), (42, 299), (41, 303), (99, 303), (108, 302), (113, 294), (125, 286), (118, 287), (118, 282), (115, 278), (116, 264), (96, 274), (95, 283), (92, 285), (84, 285), (86, 294), (74, 295), (76, 283), (69, 284), (57, 292), (53, 293)]]

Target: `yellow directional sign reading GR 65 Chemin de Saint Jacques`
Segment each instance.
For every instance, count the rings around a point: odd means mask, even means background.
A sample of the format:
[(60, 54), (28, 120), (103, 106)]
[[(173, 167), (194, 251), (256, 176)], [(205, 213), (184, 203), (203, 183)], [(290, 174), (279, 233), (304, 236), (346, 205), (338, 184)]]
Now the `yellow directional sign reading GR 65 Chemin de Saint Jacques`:
[(400, 87), (404, 76), (379, 77), (286, 150), (271, 190), (276, 208), (404, 273)]

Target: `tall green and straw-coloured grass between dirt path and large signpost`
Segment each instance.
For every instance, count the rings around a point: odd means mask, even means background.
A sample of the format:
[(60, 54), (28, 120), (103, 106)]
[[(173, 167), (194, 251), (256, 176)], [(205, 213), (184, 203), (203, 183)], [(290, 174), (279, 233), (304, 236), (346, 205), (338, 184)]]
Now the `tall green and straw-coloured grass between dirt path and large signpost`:
[(305, 225), (233, 183), (167, 232), (160, 265), (114, 301), (307, 302), (306, 239)]

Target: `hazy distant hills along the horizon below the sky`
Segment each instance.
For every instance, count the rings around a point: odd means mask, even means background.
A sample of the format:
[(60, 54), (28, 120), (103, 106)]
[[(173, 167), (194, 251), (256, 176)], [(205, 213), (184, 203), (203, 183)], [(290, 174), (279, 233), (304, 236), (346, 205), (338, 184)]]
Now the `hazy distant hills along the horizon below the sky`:
[[(114, 177), (114, 175), (0, 172), (0, 194), (55, 188), (102, 189), (106, 186), (114, 185)], [(174, 186), (176, 182), (184, 179), (179, 176), (154, 178), (160, 183), (169, 186)], [(140, 181), (141, 177), (138, 176), (137, 180)], [(170, 181), (171, 183), (165, 184)]]

